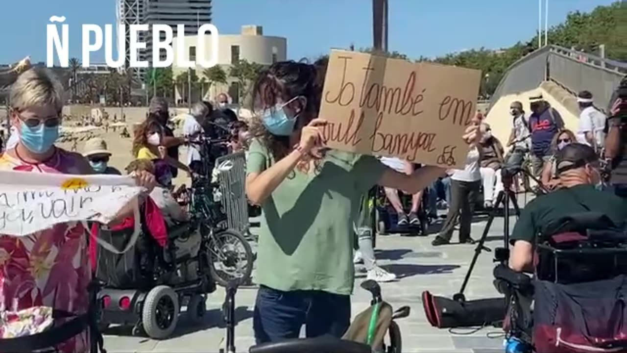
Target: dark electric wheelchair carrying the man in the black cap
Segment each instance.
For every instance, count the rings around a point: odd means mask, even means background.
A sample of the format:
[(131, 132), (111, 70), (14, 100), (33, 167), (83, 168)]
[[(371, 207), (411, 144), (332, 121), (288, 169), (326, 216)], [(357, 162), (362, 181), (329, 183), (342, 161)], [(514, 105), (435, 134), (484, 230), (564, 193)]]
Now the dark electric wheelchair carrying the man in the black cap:
[(591, 211), (563, 217), (536, 236), (532, 278), (505, 264), (494, 276), (508, 342), (520, 342), (508, 352), (627, 351), (623, 224)]

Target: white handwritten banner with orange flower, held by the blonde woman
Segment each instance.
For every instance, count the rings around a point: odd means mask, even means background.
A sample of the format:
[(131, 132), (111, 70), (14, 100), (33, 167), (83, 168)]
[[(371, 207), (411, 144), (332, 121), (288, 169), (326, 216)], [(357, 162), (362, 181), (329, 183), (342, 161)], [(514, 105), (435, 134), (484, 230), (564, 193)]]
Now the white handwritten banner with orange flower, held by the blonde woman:
[(26, 236), (71, 221), (108, 223), (140, 192), (125, 176), (0, 171), (0, 234)]

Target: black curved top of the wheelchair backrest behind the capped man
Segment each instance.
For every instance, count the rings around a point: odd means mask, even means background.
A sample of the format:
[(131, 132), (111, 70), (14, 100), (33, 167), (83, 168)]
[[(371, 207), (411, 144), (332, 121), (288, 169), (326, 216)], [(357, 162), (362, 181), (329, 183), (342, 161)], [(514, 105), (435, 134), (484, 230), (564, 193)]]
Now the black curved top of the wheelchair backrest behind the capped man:
[(589, 231), (620, 230), (620, 227), (601, 212), (579, 212), (557, 219), (544, 227), (542, 236), (576, 232), (588, 234)]

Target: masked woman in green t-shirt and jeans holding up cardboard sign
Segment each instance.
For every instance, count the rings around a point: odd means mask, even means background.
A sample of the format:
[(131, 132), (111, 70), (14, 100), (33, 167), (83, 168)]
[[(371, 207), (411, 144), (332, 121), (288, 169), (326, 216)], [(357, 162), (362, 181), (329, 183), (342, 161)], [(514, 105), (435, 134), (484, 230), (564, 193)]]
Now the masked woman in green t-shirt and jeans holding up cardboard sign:
[[(445, 170), (406, 175), (373, 156), (323, 153), (318, 117), (325, 63), (278, 62), (253, 87), (258, 113), (248, 157), (246, 194), (261, 205), (253, 327), (258, 343), (298, 337), (340, 337), (350, 322), (352, 224), (362, 195), (376, 184), (409, 193)], [(468, 143), (478, 139), (467, 130)]]

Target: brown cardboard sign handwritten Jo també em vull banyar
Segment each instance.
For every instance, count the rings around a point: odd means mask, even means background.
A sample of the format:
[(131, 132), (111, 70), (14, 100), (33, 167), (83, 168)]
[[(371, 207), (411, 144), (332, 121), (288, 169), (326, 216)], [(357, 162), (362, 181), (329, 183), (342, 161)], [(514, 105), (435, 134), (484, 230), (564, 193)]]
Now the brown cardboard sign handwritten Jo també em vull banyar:
[(481, 72), (332, 50), (319, 116), (330, 148), (463, 168)]

